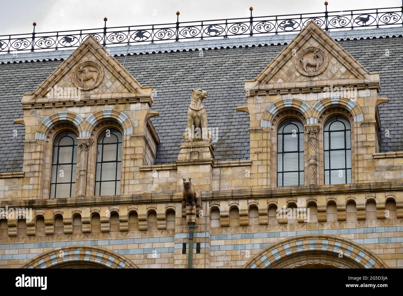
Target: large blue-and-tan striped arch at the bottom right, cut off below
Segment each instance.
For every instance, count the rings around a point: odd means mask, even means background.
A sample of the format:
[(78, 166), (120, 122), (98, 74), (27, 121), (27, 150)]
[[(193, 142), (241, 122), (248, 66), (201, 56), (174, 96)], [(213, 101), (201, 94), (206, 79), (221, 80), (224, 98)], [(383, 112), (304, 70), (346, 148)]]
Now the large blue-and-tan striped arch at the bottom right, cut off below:
[(374, 253), (351, 240), (301, 235), (272, 244), (244, 268), (388, 268)]

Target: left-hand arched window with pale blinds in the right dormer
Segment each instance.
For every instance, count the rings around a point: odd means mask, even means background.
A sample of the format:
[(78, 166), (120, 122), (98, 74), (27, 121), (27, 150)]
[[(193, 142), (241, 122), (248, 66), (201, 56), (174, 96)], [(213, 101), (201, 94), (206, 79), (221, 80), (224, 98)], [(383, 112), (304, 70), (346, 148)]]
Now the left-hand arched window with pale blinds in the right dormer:
[(277, 186), (304, 184), (303, 125), (296, 119), (284, 120), (277, 130)]

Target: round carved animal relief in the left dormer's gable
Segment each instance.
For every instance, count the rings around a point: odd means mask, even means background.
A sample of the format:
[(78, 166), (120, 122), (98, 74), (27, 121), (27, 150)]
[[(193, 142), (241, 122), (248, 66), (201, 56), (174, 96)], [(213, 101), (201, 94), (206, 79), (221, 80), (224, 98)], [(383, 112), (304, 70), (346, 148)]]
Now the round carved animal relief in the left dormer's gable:
[(94, 61), (82, 62), (74, 68), (71, 80), (79, 89), (88, 91), (96, 88), (104, 80), (104, 69)]

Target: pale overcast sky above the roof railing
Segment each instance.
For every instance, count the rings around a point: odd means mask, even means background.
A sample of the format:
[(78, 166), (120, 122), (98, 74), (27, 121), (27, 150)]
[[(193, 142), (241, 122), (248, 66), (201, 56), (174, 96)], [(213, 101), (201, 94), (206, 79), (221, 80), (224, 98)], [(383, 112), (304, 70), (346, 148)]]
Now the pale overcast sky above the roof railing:
[[(324, 11), (324, 0), (0, 0), (0, 35)], [(401, 6), (401, 0), (328, 0), (329, 11)]]

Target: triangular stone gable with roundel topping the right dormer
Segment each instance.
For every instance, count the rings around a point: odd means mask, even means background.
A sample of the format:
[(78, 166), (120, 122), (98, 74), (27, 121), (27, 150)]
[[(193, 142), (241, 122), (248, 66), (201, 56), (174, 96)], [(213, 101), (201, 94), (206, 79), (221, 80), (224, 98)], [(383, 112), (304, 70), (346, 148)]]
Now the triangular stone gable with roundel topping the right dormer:
[[(316, 63), (321, 64), (318, 71)], [(311, 20), (256, 77), (252, 88), (265, 84), (337, 79), (368, 81), (370, 72)]]

